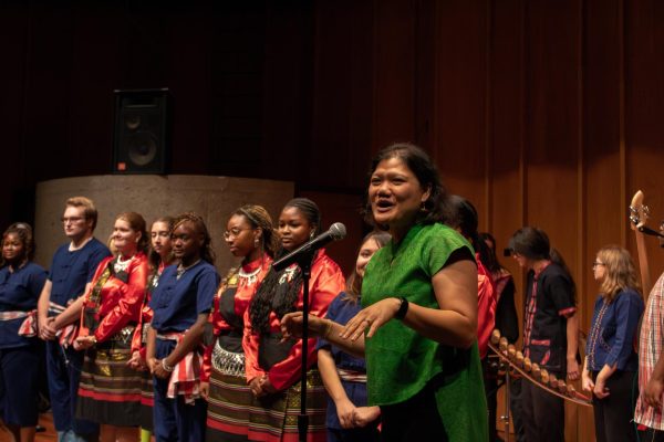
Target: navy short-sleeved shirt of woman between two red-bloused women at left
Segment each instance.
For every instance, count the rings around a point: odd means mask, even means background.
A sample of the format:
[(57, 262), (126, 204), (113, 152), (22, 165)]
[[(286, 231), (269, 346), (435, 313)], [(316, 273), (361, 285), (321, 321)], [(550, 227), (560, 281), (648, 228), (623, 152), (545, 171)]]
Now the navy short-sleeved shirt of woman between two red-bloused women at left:
[(206, 261), (189, 267), (177, 278), (177, 265), (164, 269), (149, 306), (152, 328), (159, 333), (185, 332), (198, 315), (209, 313), (219, 286), (219, 275)]

